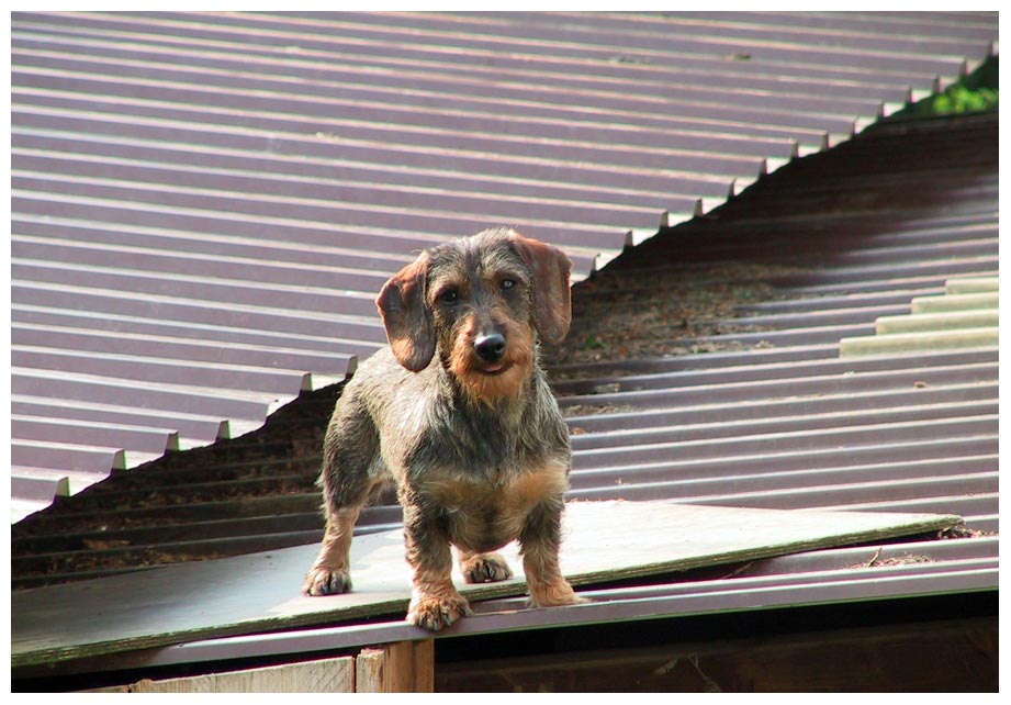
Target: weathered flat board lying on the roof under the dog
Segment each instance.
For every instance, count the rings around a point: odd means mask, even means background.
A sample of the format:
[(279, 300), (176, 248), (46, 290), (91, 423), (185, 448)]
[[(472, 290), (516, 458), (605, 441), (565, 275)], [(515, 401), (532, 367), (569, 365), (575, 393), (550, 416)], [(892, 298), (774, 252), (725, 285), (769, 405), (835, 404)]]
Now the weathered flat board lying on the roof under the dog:
[[(565, 513), (562, 569), (574, 585), (638, 578), (946, 528), (936, 514), (743, 510), (651, 502), (574, 502)], [(525, 593), (517, 578), (465, 585), (472, 601)], [(300, 594), (316, 546), (166, 566), (40, 588), (11, 597), (11, 665), (42, 664), (200, 638), (333, 624), (406, 611), (409, 572), (400, 530), (360, 536), (355, 591)]]

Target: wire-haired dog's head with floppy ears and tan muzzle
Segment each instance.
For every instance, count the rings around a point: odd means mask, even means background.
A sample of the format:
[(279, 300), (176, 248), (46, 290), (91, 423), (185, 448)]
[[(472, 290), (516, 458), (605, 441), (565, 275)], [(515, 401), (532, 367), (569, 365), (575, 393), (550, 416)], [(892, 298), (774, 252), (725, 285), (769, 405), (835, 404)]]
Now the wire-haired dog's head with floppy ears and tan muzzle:
[(422, 253), (390, 278), (377, 304), (396, 359), (414, 372), (436, 350), (481, 399), (512, 395), (529, 377), (536, 338), (569, 332), (572, 262), (506, 227)]

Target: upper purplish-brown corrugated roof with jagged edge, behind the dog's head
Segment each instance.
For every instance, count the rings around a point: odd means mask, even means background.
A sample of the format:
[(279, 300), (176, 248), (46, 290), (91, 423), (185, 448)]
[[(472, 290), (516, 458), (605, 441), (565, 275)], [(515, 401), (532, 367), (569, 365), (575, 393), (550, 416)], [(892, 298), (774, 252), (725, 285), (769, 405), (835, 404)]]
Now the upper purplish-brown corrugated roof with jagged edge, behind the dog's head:
[(342, 379), (412, 249), (509, 223), (585, 276), (996, 41), (996, 13), (13, 13), (15, 514)]

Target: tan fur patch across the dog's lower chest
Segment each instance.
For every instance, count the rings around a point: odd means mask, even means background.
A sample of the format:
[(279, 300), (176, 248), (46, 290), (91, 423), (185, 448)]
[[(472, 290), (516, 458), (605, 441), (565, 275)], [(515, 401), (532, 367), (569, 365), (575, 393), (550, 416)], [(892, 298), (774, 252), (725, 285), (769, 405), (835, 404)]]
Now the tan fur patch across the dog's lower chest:
[(490, 481), (482, 477), (442, 475), (418, 488), (447, 517), (450, 540), (459, 548), (485, 552), (515, 540), (530, 511), (569, 486), (568, 468), (544, 463)]

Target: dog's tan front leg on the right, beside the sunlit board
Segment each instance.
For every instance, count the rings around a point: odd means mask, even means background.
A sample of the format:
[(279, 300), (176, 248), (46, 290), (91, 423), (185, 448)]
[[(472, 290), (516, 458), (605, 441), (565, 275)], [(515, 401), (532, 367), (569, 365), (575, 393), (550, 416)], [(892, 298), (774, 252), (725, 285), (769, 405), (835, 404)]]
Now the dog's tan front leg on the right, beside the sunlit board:
[(574, 605), (586, 600), (576, 596), (559, 567), (562, 536), (561, 496), (544, 500), (527, 516), (519, 536), (524, 572), (535, 607)]

